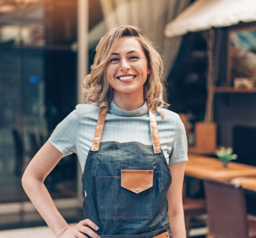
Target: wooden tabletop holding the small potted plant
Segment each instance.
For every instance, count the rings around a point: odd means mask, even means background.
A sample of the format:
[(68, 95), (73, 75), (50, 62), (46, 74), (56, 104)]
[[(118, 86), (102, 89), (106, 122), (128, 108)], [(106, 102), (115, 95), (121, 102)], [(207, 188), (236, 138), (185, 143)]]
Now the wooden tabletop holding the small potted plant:
[[(230, 180), (238, 177), (256, 177), (256, 167), (246, 164), (230, 162), (223, 168), (217, 158), (189, 154), (185, 175), (202, 179), (204, 177)], [(243, 187), (243, 186), (242, 186)]]

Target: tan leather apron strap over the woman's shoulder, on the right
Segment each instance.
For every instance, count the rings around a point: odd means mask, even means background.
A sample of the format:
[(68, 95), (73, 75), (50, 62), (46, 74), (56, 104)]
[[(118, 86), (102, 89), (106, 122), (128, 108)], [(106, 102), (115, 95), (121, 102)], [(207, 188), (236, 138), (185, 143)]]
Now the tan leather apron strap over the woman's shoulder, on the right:
[(158, 135), (158, 123), (156, 122), (156, 115), (153, 109), (148, 106), (148, 113), (150, 119), (150, 127), (151, 127), (151, 137), (153, 142), (153, 151), (154, 154), (161, 153), (161, 147), (159, 143), (159, 135)]

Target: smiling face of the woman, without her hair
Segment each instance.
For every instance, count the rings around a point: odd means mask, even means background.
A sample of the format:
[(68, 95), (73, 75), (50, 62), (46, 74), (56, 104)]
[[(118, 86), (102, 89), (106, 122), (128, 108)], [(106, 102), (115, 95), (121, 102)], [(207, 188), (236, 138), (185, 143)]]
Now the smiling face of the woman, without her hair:
[(144, 50), (135, 37), (122, 37), (107, 64), (107, 78), (115, 94), (142, 94), (150, 73)]

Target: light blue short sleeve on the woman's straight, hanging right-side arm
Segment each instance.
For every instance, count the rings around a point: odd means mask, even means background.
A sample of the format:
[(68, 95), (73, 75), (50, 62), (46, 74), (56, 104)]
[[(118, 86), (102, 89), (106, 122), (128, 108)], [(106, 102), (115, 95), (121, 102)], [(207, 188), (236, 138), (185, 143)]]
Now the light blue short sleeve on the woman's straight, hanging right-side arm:
[(172, 144), (172, 151), (169, 156), (169, 164), (187, 161), (187, 136), (185, 126), (177, 114), (175, 137)]

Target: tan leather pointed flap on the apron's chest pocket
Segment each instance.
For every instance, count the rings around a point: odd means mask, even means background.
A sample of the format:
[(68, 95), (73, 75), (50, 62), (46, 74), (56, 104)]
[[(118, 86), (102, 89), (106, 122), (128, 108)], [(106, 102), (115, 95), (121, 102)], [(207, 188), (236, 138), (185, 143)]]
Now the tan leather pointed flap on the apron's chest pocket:
[(121, 170), (121, 187), (135, 194), (153, 187), (153, 170)]

